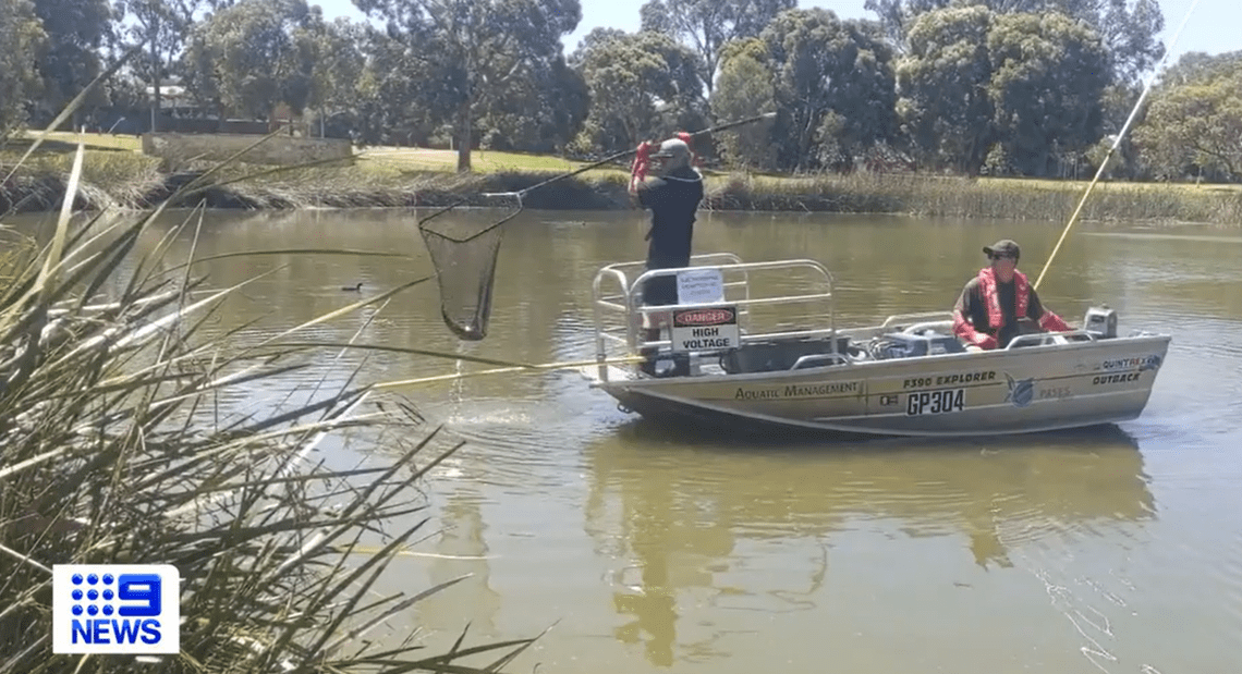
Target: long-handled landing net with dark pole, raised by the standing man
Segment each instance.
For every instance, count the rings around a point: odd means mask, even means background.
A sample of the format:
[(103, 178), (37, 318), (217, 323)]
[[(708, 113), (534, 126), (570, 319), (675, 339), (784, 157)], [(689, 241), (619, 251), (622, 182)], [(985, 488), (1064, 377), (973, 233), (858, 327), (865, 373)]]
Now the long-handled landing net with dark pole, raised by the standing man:
[[(743, 124), (751, 124), (776, 117), (775, 112), (748, 117), (719, 124), (689, 134), (691, 138), (723, 132)], [(623, 159), (637, 150), (625, 150), (594, 161), (573, 171), (549, 177), (529, 187), (512, 192), (483, 192), (484, 199), (512, 199), (517, 207), (504, 217), (479, 227), (466, 221), (441, 222), (436, 227), (427, 223), (436, 217), (467, 202), (466, 197), (445, 206), (419, 220), (419, 232), (431, 253), (440, 284), (440, 313), (445, 325), (458, 338), (478, 341), (487, 336), (487, 323), (492, 314), (492, 284), (496, 281), (496, 261), (501, 251), (501, 225), (513, 220), (523, 210), (523, 199), (534, 190)]]

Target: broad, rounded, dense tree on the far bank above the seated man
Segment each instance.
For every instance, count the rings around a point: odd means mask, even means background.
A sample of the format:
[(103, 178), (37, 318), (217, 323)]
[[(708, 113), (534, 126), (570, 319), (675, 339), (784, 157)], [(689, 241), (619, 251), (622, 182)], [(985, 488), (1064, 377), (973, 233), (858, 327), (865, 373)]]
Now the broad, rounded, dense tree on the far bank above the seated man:
[(1109, 61), (1082, 21), (955, 6), (919, 16), (907, 45), (898, 113), (932, 165), (1047, 175), (1103, 134)]

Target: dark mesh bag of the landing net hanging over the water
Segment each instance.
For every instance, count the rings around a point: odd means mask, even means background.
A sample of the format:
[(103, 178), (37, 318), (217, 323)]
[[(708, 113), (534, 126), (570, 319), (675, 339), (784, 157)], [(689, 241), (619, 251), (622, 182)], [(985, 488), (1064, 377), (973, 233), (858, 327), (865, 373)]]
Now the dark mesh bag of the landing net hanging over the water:
[(505, 222), (522, 212), (520, 194), (509, 195), (517, 207), (492, 223), (465, 218), (433, 218), (457, 204), (436, 211), (419, 222), (422, 242), (431, 253), (440, 284), (440, 314), (445, 325), (460, 339), (478, 341), (487, 336), (492, 317), (492, 288), (496, 262)]

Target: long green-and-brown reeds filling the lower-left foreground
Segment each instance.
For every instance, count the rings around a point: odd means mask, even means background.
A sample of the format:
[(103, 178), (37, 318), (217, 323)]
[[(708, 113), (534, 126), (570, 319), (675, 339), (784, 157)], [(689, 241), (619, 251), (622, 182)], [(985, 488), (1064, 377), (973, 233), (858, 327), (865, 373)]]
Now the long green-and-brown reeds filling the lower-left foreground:
[[(193, 246), (188, 259), (170, 257), (195, 220), (139, 254), (164, 206), (72, 225), (82, 176), (79, 146), (48, 241), (0, 227), (0, 674), (468, 674), (499, 670), (529, 647), (529, 638), (458, 639), (426, 655), (366, 645), (388, 617), (462, 580), (396, 596), (373, 590), (426, 519), (396, 531), (391, 523), (426, 508), (414, 487), (460, 447), (412, 406), (373, 406), (380, 392), (353, 372), (292, 408), (219, 412), (221, 397), (322, 359), (323, 346), (296, 341), (301, 333), (427, 278), (240, 346), (236, 333), (204, 326), (250, 282), (214, 288), (195, 273), (202, 261)], [(308, 459), (339, 434), (395, 458), (351, 470)], [(376, 535), (378, 551), (359, 547)], [(178, 655), (51, 653), (52, 565), (113, 562), (179, 568)]]

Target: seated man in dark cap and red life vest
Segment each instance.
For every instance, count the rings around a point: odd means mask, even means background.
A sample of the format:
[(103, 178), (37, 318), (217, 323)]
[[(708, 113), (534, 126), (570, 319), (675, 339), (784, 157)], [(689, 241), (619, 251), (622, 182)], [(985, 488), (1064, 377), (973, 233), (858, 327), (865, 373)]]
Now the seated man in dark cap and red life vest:
[(968, 350), (1004, 349), (1020, 334), (1020, 320), (1035, 320), (1046, 333), (1071, 330), (1040, 303), (1026, 274), (1017, 271), (1021, 249), (1010, 240), (984, 247), (991, 264), (966, 282), (953, 308), (953, 333)]

